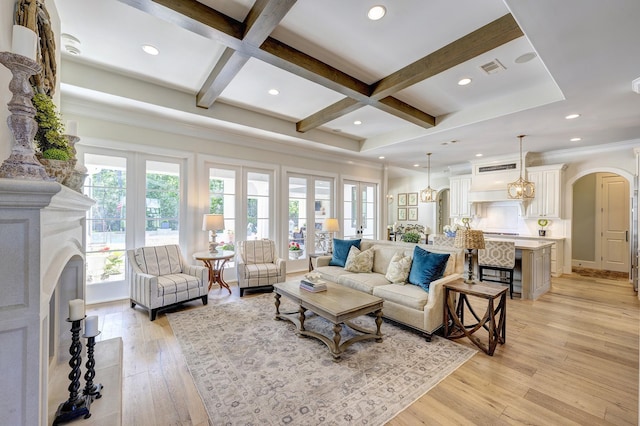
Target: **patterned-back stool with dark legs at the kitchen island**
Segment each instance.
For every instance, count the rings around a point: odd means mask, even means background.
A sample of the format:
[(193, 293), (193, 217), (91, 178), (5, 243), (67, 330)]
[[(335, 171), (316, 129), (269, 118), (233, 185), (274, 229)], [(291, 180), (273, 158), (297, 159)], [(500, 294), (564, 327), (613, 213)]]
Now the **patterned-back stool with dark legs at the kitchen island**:
[[(513, 299), (513, 270), (516, 265), (516, 243), (513, 241), (486, 241), (485, 248), (478, 250), (478, 275), (480, 281), (491, 281), (509, 285), (509, 297)], [(484, 271), (495, 271), (488, 277)]]

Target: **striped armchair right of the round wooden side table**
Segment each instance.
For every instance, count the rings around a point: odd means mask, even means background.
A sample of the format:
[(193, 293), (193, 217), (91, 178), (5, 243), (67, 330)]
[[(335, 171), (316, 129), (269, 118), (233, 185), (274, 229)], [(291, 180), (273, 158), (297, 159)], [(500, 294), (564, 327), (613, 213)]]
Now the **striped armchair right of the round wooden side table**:
[(240, 297), (247, 288), (273, 289), (287, 278), (287, 262), (276, 254), (271, 240), (240, 241), (236, 259)]

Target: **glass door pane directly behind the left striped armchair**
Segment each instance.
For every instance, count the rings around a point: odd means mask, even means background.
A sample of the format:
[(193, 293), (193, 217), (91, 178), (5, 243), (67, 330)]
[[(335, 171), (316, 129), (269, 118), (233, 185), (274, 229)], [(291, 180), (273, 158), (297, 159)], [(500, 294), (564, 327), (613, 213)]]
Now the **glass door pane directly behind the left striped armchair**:
[(180, 165), (147, 161), (145, 245), (179, 243)]

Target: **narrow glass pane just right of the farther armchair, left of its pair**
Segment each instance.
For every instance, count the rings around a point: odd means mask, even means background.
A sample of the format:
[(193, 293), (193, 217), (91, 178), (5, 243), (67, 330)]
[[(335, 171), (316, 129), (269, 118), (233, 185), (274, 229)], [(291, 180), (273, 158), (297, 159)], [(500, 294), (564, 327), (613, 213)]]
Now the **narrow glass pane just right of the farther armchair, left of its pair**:
[[(307, 179), (289, 177), (289, 259), (305, 256), (307, 242)], [(291, 250), (300, 248), (300, 250)]]

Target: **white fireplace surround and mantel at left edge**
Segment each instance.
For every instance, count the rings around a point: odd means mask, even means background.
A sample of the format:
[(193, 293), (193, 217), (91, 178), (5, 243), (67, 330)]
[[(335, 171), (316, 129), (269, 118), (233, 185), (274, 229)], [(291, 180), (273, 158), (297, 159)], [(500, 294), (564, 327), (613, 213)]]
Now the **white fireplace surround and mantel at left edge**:
[(68, 302), (85, 296), (86, 212), (93, 204), (55, 182), (0, 179), (3, 424), (48, 424), (49, 369), (64, 368), (60, 360), (68, 358), (60, 353), (71, 339)]

